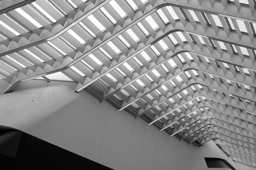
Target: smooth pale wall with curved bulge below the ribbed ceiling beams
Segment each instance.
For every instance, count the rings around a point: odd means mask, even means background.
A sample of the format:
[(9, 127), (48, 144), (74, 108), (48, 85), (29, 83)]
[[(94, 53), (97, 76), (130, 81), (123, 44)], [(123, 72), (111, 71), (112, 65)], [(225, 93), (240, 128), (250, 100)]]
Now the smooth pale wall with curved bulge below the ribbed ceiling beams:
[(13, 91), (0, 96), (0, 107), (0, 125), (113, 169), (207, 169), (204, 157), (236, 167), (213, 141), (188, 145), (84, 90), (48, 86)]

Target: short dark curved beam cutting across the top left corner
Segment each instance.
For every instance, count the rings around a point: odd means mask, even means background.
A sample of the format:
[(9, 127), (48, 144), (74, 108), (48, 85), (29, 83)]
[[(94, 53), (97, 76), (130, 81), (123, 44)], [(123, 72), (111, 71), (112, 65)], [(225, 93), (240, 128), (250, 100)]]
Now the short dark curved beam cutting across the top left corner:
[(0, 2), (0, 15), (5, 12), (9, 12), (16, 8), (22, 7), (24, 5), (30, 4), (36, 0), (15, 0), (15, 1), (1, 1)]

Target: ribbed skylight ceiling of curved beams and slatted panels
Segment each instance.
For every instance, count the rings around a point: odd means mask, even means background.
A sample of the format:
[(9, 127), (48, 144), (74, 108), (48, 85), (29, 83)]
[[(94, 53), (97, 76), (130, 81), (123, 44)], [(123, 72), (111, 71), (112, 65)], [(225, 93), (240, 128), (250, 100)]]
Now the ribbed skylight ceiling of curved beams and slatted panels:
[(100, 102), (256, 167), (255, 0), (0, 2), (6, 93), (74, 81)]

